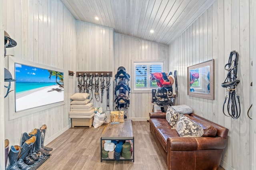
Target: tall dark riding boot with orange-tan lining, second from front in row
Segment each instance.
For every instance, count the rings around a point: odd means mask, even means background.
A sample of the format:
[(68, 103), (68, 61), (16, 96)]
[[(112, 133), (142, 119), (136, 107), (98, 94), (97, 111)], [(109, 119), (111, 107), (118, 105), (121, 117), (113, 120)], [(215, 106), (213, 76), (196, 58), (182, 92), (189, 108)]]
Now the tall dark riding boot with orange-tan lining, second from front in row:
[(24, 159), (28, 155), (28, 152), (30, 151), (30, 149), (31, 149), (32, 145), (35, 143), (35, 141), (36, 141), (36, 137), (32, 136), (30, 139), (26, 140), (21, 147), (21, 151), (20, 151), (20, 154), (18, 157), (18, 166), (22, 170), (30, 169), (30, 167), (24, 163)]

